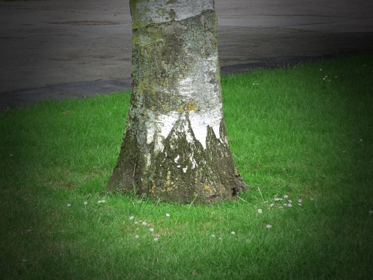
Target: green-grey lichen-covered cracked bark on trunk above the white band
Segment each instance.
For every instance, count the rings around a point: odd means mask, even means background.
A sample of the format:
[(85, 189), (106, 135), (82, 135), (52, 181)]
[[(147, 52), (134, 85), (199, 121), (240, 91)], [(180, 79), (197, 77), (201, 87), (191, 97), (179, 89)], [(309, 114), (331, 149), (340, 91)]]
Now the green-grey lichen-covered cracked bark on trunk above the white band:
[[(182, 96), (175, 94), (176, 81), (198, 67), (194, 59), (184, 55), (185, 44), (187, 42), (189, 53), (197, 53), (202, 58), (217, 56), (215, 34), (213, 11), (133, 31), (132, 76), (139, 80), (137, 91), (144, 94), (145, 109), (181, 112), (181, 107), (186, 111), (189, 103), (196, 105), (196, 100), (182, 100)], [(211, 84), (218, 84), (219, 79), (219, 72), (214, 71)]]

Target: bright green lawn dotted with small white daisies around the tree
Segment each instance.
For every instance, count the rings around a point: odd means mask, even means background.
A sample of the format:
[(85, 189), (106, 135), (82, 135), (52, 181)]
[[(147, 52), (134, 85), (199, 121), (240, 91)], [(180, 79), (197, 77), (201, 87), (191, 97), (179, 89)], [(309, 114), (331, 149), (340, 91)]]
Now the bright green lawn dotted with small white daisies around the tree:
[(1, 112), (1, 278), (372, 279), (372, 71), (362, 55), (223, 76), (252, 191), (215, 206), (104, 192), (129, 93)]

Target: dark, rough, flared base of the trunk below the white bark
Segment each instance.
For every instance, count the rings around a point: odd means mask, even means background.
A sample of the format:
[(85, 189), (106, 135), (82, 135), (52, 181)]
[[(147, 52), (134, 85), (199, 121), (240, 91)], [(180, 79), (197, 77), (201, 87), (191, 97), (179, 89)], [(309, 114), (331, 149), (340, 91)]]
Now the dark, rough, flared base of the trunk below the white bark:
[(154, 200), (210, 204), (230, 200), (249, 189), (232, 159), (223, 121), (220, 138), (207, 127), (206, 149), (195, 139), (190, 122), (185, 119), (175, 123), (163, 151), (153, 153), (150, 159), (134, 141), (126, 130), (107, 190), (135, 191)]

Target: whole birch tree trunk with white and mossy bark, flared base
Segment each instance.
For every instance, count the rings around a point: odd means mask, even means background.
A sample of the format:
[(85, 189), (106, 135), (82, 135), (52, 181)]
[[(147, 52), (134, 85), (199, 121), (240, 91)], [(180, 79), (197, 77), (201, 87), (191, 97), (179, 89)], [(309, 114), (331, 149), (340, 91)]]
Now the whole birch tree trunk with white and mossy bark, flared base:
[(213, 0), (130, 0), (132, 94), (107, 189), (211, 203), (248, 189), (226, 139)]

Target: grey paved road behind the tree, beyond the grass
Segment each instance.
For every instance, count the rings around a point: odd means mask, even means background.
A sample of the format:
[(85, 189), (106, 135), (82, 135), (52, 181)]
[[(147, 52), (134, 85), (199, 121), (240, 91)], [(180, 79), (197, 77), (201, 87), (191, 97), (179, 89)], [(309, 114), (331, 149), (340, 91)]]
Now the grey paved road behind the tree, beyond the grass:
[[(373, 49), (370, 0), (215, 0), (222, 72)], [(123, 0), (0, 2), (0, 109), (130, 88)]]

